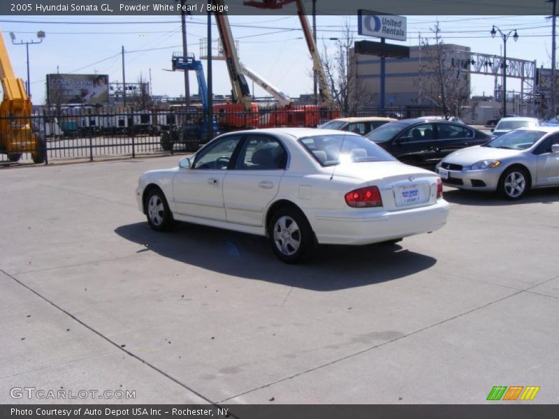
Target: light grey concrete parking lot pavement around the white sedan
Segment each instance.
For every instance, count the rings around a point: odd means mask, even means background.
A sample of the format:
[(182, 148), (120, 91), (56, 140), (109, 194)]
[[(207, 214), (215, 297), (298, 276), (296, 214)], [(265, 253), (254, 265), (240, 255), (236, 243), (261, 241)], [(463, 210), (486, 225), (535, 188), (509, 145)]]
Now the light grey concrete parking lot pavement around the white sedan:
[(559, 402), (559, 189), (445, 188), (442, 230), (293, 266), (261, 237), (152, 231), (138, 176), (178, 159), (0, 170), (0, 403)]

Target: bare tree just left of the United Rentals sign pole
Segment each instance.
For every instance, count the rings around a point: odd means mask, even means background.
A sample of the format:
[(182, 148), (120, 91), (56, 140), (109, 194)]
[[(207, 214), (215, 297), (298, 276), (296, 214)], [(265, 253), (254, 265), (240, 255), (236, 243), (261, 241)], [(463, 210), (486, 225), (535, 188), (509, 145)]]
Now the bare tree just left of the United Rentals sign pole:
[(354, 116), (359, 108), (370, 105), (375, 94), (365, 89), (357, 77), (354, 59), (354, 36), (349, 21), (344, 22), (342, 37), (335, 40), (335, 49), (328, 52), (324, 45), (322, 64), (335, 105), (344, 116)]

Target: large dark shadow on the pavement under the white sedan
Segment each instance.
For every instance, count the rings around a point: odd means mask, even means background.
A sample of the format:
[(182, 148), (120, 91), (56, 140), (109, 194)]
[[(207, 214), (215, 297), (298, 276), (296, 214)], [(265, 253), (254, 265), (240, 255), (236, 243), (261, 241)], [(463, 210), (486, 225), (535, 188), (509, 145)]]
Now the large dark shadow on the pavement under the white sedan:
[[(371, 244), (319, 246), (309, 262), (287, 265), (275, 257), (265, 237), (189, 223), (177, 223), (170, 233), (156, 232), (147, 222), (121, 226), (115, 233), (188, 265), (314, 291), (335, 291), (407, 277), (437, 262), (398, 244)], [(402, 244), (405, 246), (405, 240)]]

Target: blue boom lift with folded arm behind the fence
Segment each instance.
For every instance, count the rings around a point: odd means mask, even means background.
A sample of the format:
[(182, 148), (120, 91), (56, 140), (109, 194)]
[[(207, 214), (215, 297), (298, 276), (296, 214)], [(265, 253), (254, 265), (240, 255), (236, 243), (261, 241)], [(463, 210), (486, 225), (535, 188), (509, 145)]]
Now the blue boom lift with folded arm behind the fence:
[[(199, 110), (187, 109), (184, 115), (185, 121), (182, 124), (161, 134), (161, 148), (168, 151), (174, 144), (180, 143), (187, 151), (196, 152), (208, 133), (208, 86), (205, 83), (204, 68), (201, 61), (194, 59), (194, 54), (184, 57), (180, 52), (173, 52), (171, 66), (173, 71), (194, 71), (196, 73), (203, 115), (200, 115)], [(219, 124), (216, 119), (213, 121), (213, 133), (219, 135)]]

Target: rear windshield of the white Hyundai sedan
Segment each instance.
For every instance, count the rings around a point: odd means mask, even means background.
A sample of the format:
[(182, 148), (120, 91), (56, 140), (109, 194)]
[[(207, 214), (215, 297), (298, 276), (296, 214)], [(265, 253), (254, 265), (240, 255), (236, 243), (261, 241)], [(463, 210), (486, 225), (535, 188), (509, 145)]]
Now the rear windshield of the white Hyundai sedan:
[(359, 135), (313, 135), (300, 143), (322, 166), (365, 161), (395, 161), (378, 145)]

